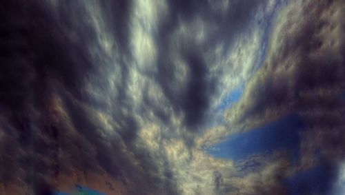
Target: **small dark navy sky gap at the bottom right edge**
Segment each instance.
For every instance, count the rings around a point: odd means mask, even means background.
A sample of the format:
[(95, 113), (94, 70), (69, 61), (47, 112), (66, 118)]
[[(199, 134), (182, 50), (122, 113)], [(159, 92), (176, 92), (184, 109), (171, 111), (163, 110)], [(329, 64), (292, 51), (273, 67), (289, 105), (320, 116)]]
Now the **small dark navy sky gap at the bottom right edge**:
[(326, 163), (297, 172), (284, 180), (291, 195), (328, 194), (333, 183), (333, 171)]

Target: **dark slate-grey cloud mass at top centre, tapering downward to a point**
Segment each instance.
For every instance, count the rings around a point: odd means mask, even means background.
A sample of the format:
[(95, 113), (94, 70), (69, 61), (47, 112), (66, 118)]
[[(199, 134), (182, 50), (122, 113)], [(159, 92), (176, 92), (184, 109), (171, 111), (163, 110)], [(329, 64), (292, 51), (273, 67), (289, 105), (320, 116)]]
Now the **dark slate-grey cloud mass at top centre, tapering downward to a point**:
[[(261, 2), (261, 3), (260, 3)], [(164, 19), (159, 28), (159, 57), (157, 81), (177, 112), (185, 115), (188, 130), (199, 130), (208, 113), (210, 100), (215, 95), (218, 81), (217, 76), (210, 76), (212, 65), (206, 64), (205, 53), (217, 45), (224, 43), (231, 45), (238, 32), (248, 28), (250, 19), (253, 19), (257, 9), (264, 1), (229, 1), (223, 6), (224, 14), (213, 10), (215, 4), (221, 1), (169, 1), (169, 17)], [(215, 26), (205, 43), (201, 45), (193, 40), (197, 31), (191, 29), (193, 38), (184, 34), (173, 37), (180, 25), (193, 23), (201, 18)], [(184, 41), (185, 40), (185, 41)], [(177, 49), (167, 45), (177, 44)], [(175, 61), (177, 53), (181, 60), (186, 62), (190, 74), (184, 83), (177, 83), (177, 68)]]

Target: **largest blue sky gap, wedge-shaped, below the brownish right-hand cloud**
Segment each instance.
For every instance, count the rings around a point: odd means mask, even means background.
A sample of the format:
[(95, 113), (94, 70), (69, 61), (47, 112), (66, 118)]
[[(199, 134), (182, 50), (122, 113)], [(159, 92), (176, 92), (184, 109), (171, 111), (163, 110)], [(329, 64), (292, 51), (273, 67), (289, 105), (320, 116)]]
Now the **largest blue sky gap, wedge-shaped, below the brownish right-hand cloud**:
[(299, 133), (303, 130), (302, 121), (297, 114), (289, 114), (277, 121), (257, 127), (246, 132), (231, 134), (211, 148), (209, 152), (215, 158), (228, 158), (242, 161), (248, 156), (286, 150), (291, 160), (296, 163), (299, 158)]

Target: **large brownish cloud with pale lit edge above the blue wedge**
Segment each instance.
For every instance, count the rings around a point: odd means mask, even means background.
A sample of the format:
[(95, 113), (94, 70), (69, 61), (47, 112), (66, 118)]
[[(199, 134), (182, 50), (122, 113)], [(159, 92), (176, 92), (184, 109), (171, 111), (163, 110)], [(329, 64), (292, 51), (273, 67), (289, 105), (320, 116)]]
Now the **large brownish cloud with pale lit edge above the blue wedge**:
[[(264, 65), (226, 113), (239, 132), (298, 114), (305, 126), (299, 170), (330, 162), (334, 170), (344, 158), (342, 8), (341, 1), (289, 3), (277, 18)], [(295, 169), (291, 165), (287, 172)], [(333, 181), (331, 170), (328, 181)]]

